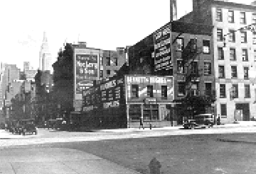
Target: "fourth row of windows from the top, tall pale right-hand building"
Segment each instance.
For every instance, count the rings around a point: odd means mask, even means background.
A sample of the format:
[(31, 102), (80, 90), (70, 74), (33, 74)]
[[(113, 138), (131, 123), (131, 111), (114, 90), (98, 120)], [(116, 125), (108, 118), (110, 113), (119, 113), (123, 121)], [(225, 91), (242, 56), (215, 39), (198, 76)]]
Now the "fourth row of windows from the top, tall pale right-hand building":
[[(218, 77), (220, 79), (225, 79), (225, 66), (224, 65), (218, 66), (218, 72), (219, 72)], [(243, 74), (244, 74), (244, 79), (249, 79), (249, 67), (248, 66), (243, 67)], [(238, 67), (235, 65), (231, 66), (231, 78), (232, 79), (238, 78)]]

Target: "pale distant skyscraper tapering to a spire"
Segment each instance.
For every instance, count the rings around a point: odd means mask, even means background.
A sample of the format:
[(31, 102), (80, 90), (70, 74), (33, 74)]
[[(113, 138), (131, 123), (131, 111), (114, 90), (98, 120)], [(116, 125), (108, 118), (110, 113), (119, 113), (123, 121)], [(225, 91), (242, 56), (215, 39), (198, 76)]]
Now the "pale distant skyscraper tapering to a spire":
[(39, 54), (39, 69), (41, 71), (51, 71), (51, 55), (48, 47), (46, 32), (43, 33), (43, 43)]

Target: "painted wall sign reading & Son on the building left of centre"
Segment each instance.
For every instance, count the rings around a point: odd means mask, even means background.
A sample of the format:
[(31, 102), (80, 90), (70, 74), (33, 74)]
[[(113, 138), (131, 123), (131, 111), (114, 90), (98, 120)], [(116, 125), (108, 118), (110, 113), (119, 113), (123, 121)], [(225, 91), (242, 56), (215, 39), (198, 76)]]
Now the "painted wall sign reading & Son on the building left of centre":
[(97, 55), (76, 54), (76, 93), (93, 86), (98, 76)]

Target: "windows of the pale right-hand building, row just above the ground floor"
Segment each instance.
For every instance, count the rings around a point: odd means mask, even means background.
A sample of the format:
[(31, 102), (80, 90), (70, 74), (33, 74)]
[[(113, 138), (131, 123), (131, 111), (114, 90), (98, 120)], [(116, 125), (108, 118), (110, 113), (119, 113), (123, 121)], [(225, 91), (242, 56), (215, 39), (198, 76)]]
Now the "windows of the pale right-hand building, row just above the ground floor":
[[(250, 84), (245, 84), (245, 98), (250, 98)], [(238, 84), (233, 84), (230, 88), (230, 98), (238, 98)], [(220, 84), (220, 98), (227, 98), (225, 84)]]

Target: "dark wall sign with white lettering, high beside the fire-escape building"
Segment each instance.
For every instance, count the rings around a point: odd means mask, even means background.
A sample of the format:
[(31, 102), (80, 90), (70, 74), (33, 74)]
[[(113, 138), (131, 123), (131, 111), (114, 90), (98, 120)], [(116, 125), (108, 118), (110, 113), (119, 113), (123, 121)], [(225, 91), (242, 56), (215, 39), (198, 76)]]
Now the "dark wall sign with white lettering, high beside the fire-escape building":
[(165, 25), (154, 33), (154, 71), (171, 69), (171, 28)]

